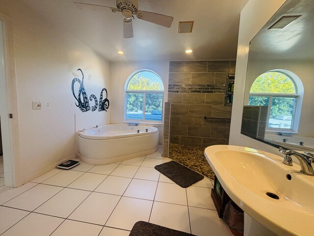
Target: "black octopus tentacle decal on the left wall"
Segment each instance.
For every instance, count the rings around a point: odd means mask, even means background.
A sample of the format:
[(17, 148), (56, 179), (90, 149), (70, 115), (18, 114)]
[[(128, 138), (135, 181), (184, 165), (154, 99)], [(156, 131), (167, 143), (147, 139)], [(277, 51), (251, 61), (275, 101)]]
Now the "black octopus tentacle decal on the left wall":
[[(72, 89), (72, 93), (74, 98), (77, 100), (78, 104), (75, 103), (75, 105), (82, 111), (82, 112), (87, 112), (90, 110), (90, 105), (89, 105), (89, 101), (87, 98), (87, 93), (86, 90), (84, 88), (84, 73), (81, 69), (78, 69), (78, 71), (82, 74), (82, 81), (80, 81), (78, 78), (74, 78), (72, 80), (72, 85), (71, 85), (71, 89)], [(75, 91), (74, 91), (74, 84), (78, 82), (79, 83), (79, 89), (78, 89), (78, 96), (75, 95)], [(106, 93), (106, 97), (103, 100), (103, 92), (105, 90)], [(98, 100), (97, 97), (94, 94), (91, 94), (89, 96), (89, 100), (92, 101), (94, 99), (95, 101), (95, 105), (92, 106), (92, 112), (95, 111), (98, 107)], [(107, 93), (107, 89), (102, 89), (101, 93), (100, 93), (100, 98), (99, 98), (99, 109), (98, 111), (107, 111), (107, 109), (109, 108), (109, 100), (108, 100), (108, 93)]]

